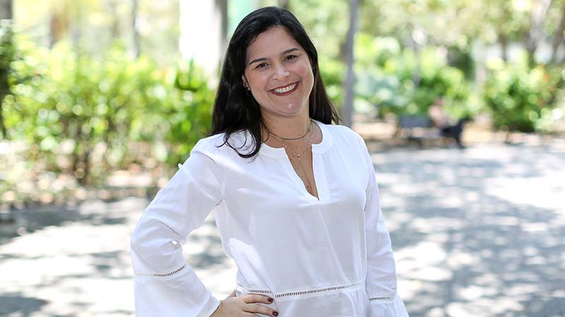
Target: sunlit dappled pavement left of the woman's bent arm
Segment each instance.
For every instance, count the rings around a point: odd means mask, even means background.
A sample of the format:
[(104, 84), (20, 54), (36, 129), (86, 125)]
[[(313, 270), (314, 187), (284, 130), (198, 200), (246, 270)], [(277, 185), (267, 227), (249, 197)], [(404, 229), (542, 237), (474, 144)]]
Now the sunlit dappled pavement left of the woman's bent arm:
[(0, 246), (0, 315), (133, 316), (129, 235), (145, 204), (89, 201)]

